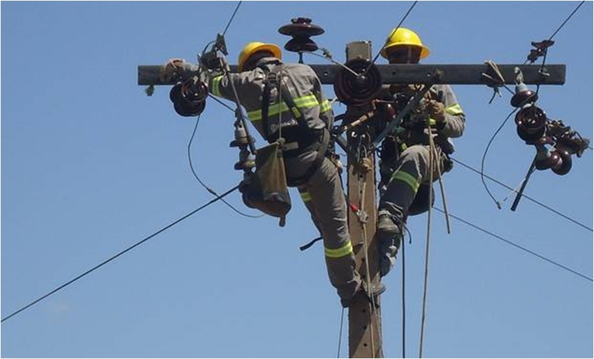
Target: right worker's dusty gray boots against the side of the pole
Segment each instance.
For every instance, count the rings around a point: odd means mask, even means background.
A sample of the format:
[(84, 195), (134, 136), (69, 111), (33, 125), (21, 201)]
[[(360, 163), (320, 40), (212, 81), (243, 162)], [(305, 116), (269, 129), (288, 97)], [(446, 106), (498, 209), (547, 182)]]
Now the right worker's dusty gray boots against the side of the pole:
[(389, 213), (379, 215), (376, 235), (379, 241), (379, 273), (383, 277), (396, 264), (396, 253), (400, 246), (401, 230), (393, 215)]

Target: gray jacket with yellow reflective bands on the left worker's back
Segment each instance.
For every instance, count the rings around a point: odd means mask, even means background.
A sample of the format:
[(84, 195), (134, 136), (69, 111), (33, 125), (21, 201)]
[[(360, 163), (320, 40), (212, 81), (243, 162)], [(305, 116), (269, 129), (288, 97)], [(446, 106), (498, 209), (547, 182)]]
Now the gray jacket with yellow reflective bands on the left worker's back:
[[(271, 72), (276, 74), (282, 86), (271, 89), (268, 106), (268, 131), (263, 127), (262, 121), (262, 94), (264, 93), (265, 82), (272, 77)], [(251, 71), (232, 73), (231, 81), (236, 87), (240, 104), (247, 111), (251, 123), (258, 129), (258, 132), (266, 137), (269, 142), (278, 138), (279, 124), (282, 137), (287, 142), (300, 142), (300, 135), (295, 128), (299, 127), (298, 115), (301, 115), (307, 123), (307, 128), (318, 132), (328, 128), (334, 120), (332, 108), (329, 101), (325, 99), (320, 79), (312, 68), (303, 64), (282, 64), (274, 57), (266, 57), (258, 62), (258, 66)], [(233, 88), (226, 76), (220, 75), (211, 77), (209, 81), (211, 93), (225, 99), (234, 99)], [(288, 91), (298, 113), (289, 108), (285, 103), (280, 91)]]

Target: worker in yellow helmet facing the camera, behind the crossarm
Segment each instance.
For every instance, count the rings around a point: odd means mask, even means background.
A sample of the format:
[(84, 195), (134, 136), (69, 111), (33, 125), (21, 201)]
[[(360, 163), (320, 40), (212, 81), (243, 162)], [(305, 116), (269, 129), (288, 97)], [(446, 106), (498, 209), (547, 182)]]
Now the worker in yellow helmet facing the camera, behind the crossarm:
[[(392, 30), (392, 35), (381, 55), (390, 64), (418, 64), (420, 59), (429, 55), (429, 49), (423, 45), (419, 35), (407, 28)], [(390, 97), (394, 99), (396, 110), (401, 110), (418, 86), (392, 86)], [(427, 124), (431, 126), (428, 133)], [(434, 138), (437, 166), (440, 173), (450, 171), (450, 155), (454, 148), (450, 137), (460, 137), (465, 126), (465, 115), (459, 106), (452, 88), (448, 85), (434, 85), (414, 109), (411, 115), (403, 119), (399, 134), (387, 137), (383, 146), (392, 142), (394, 151), (385, 151), (381, 158), (381, 184), (378, 211), (377, 233), (380, 247), (380, 274), (386, 275), (394, 262), (403, 236), (403, 229), (409, 214), (417, 214), (418, 208), (412, 208), (416, 200), (425, 196), (421, 206), (429, 206), (428, 188), (430, 181), (430, 146), (429, 135)], [(387, 141), (387, 142), (386, 142)], [(384, 151), (383, 151), (384, 152)], [(384, 158), (386, 157), (386, 158)], [(436, 168), (437, 169), (437, 168)], [(438, 179), (437, 171), (433, 180)], [(418, 195), (418, 196), (417, 196)], [(414, 213), (416, 212), (416, 213)]]

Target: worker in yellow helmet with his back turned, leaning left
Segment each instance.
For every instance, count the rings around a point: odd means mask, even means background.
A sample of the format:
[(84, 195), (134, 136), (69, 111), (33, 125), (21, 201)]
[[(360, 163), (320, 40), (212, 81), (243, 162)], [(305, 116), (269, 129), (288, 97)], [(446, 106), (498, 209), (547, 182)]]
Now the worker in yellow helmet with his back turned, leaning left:
[[(270, 143), (285, 139), (287, 182), (298, 187), (323, 237), (329, 280), (343, 307), (349, 307), (355, 295), (379, 295), (385, 287), (368, 290), (355, 269), (340, 174), (325, 157), (334, 115), (320, 79), (309, 66), (280, 59), (280, 48), (273, 43), (247, 43), (239, 55), (238, 73), (230, 78), (260, 135)], [(209, 72), (208, 81), (213, 95), (235, 99), (229, 77)]]

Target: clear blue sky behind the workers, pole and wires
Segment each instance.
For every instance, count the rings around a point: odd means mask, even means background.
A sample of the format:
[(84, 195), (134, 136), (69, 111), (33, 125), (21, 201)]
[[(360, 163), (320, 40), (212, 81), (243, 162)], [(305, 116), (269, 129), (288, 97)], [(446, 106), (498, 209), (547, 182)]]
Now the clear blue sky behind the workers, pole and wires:
[[(1, 4), (2, 318), (211, 199), (188, 164), (195, 119), (173, 112), (169, 88), (146, 97), (137, 65), (195, 61), (236, 4)], [(530, 41), (550, 37), (577, 4), (421, 1), (403, 25), (432, 51), (425, 64), (521, 64)], [(325, 28), (315, 40), (338, 61), (349, 41), (370, 40), (376, 52), (410, 5), (248, 1), (227, 32), (229, 58), (235, 63), (248, 41), (282, 45), (288, 39), (277, 29), (299, 16)], [(585, 3), (555, 36), (547, 61), (566, 64), (566, 84), (539, 92), (549, 117), (585, 137), (593, 133), (592, 15)], [(332, 87), (326, 90), (332, 96)], [(467, 115), (455, 157), (479, 168), (511, 110), (510, 97), (504, 92), (488, 104), (485, 86), (454, 91)], [(336, 114), (343, 110), (334, 105)], [(232, 123), (233, 113), (209, 101), (191, 148), (198, 175), (220, 192), (240, 180), (236, 149), (228, 147)], [(533, 155), (510, 121), (492, 144), (486, 173), (516, 186)], [(574, 158), (563, 177), (535, 173), (526, 194), (591, 228), (592, 155)], [(528, 200), (512, 212), (513, 196), (498, 210), (463, 166), (445, 184), (454, 215), (592, 278), (592, 231)], [(499, 199), (509, 193), (489, 185)], [(322, 247), (298, 250), (317, 233), (298, 193), (291, 195), (294, 208), (282, 229), (274, 218), (241, 217), (221, 203), (184, 220), (3, 322), (1, 356), (336, 356), (338, 297)], [(228, 199), (247, 211), (236, 193)], [(408, 356), (418, 355), (426, 219), (411, 218), (406, 247)], [(593, 356), (591, 281), (455, 220), (447, 235), (438, 213), (433, 222), (425, 356)], [(384, 353), (399, 357), (400, 263), (384, 282)], [(342, 356), (347, 343), (345, 329)]]

